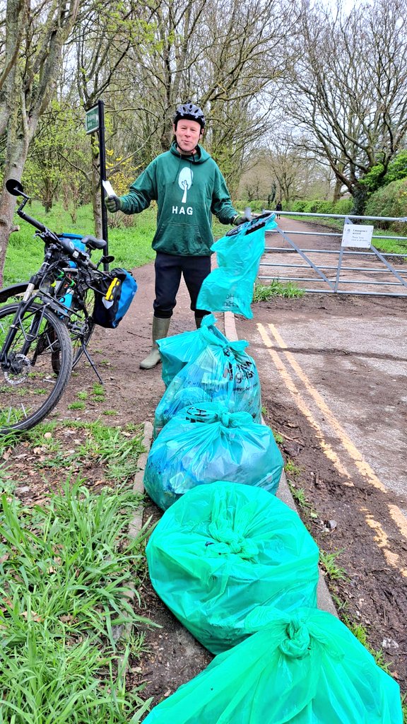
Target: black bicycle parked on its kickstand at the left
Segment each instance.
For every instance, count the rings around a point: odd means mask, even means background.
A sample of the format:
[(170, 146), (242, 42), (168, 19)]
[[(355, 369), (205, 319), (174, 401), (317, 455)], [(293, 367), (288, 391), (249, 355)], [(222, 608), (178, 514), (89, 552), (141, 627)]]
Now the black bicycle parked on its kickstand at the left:
[[(106, 279), (112, 256), (91, 261), (106, 241), (93, 236), (60, 234), (25, 214), (29, 200), (19, 181), (6, 188), (23, 198), (17, 214), (37, 230), (45, 244), (43, 263), (29, 282), (0, 290), (0, 433), (35, 426), (56, 406), (72, 369), (88, 353), (95, 321), (94, 296)], [(11, 302), (11, 303), (10, 303)], [(2, 379), (1, 379), (2, 378)]]

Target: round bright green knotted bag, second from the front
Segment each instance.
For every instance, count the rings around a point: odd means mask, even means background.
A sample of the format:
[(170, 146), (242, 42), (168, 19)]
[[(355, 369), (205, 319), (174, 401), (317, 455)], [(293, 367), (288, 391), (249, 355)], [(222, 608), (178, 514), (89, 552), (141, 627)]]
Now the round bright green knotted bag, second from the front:
[(248, 636), (259, 605), (316, 606), (319, 551), (295, 510), (267, 491), (217, 482), (169, 508), (147, 545), (159, 597), (219, 654)]

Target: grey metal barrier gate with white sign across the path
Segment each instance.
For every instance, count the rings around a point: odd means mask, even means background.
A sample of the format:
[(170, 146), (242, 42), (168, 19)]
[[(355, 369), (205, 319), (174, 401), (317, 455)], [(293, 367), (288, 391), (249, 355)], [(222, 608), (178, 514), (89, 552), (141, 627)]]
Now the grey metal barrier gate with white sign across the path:
[[(267, 232), (266, 253), (261, 259), (259, 280), (295, 282), (305, 292), (407, 297), (407, 237), (398, 240), (406, 253), (378, 251), (372, 240), (374, 221), (402, 222), (384, 216), (343, 216), (280, 211), (277, 229)], [(287, 217), (290, 218), (287, 218)], [(304, 222), (292, 217), (343, 219), (342, 231), (330, 231), (318, 222), (304, 230)], [(361, 224), (353, 224), (353, 219)], [(310, 224), (308, 224), (310, 226)], [(294, 240), (295, 238), (295, 240)]]

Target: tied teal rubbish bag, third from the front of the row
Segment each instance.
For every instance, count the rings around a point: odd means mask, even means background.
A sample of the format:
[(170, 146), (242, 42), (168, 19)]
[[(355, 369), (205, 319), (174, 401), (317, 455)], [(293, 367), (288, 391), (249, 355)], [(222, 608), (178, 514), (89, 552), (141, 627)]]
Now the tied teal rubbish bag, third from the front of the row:
[(283, 466), (272, 430), (248, 413), (222, 405), (184, 408), (159, 434), (148, 453), (144, 487), (166, 510), (201, 484), (229, 480), (275, 493)]

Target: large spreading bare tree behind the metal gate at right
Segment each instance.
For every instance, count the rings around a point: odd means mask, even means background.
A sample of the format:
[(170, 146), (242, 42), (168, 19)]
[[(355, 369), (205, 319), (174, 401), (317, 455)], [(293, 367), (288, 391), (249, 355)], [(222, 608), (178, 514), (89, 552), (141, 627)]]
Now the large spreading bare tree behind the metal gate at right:
[(301, 144), (327, 159), (358, 211), (361, 178), (380, 163), (383, 175), (407, 132), (406, 0), (374, 0), (348, 16), (304, 4), (297, 61), (287, 79), (284, 108)]

